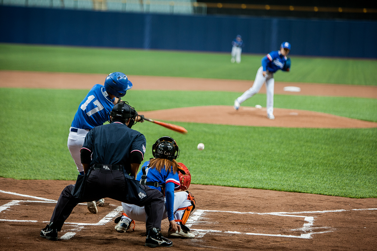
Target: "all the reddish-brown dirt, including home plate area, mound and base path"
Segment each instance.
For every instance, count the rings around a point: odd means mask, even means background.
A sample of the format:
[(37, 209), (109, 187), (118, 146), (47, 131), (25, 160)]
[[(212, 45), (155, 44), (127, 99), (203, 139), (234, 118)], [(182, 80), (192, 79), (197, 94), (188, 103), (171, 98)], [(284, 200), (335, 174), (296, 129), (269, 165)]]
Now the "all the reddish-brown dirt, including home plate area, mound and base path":
[[(0, 87), (89, 89), (94, 84), (102, 84), (104, 78), (106, 75), (0, 71)], [(190, 83), (185, 83), (182, 78), (163, 79), (142, 76), (129, 76), (129, 78), (134, 83), (134, 89), (149, 90), (197, 88), (189, 90), (241, 92), (252, 85), (252, 81), (187, 79)], [(161, 85), (162, 82), (167, 85)], [(377, 98), (375, 87), (343, 88), (342, 85), (276, 83), (275, 93), (280, 93), (280, 88), (282, 90), (287, 85), (301, 88), (301, 93), (289, 93), (294, 95), (337, 96), (336, 94), (340, 94), (340, 96)], [(317, 88), (307, 92), (310, 86)], [(326, 86), (330, 87), (327, 94)], [(346, 89), (351, 90), (346, 92)], [(364, 91), (358, 93), (359, 90)], [(216, 112), (216, 107), (207, 108), (208, 111)], [(287, 123), (291, 121), (292, 124), (280, 126), (312, 127), (308, 124), (300, 125), (298, 120), (294, 122), (295, 118), (303, 117), (302, 111), (275, 109), (276, 120), (271, 121), (265, 117), (263, 109), (247, 108), (234, 111), (232, 104), (222, 109), (227, 109), (227, 116), (233, 116), (234, 121), (237, 121), (238, 117), (241, 121), (252, 116), (253, 120), (261, 121), (261, 126), (279, 126), (273, 123), (283, 121), (285, 116), (289, 118)], [(150, 112), (152, 116), (156, 116), (153, 119), (165, 119), (160, 118), (158, 112)], [(186, 121), (184, 119), (187, 117), (186, 114), (184, 118), (176, 118), (172, 121)], [(216, 116), (212, 117), (216, 119)], [(331, 116), (326, 119), (322, 125), (326, 124), (328, 127), (342, 127), (341, 125), (350, 123), (331, 122), (336, 120)], [(311, 116), (310, 120), (313, 122), (316, 118)], [(216, 120), (209, 122), (208, 117), (207, 122), (219, 123)], [(354, 127), (376, 127), (375, 124)], [(69, 239), (53, 242), (39, 237), (40, 229), (45, 227), (54, 210), (55, 202), (52, 200), (58, 199), (65, 186), (74, 183), (75, 181), (0, 178), (0, 249), (2, 251), (149, 250), (144, 247), (143, 222), (136, 222), (135, 231), (123, 234), (115, 231), (113, 220), (121, 214), (120, 211), (116, 211), (121, 203), (109, 198), (106, 198), (104, 207), (100, 207), (97, 214), (90, 214), (86, 205), (78, 205), (74, 209), (59, 233), (59, 237), (64, 234), (71, 236)], [(196, 184), (192, 184), (189, 191), (196, 199), (196, 209), (189, 219), (190, 228), (196, 234), (196, 238), (173, 239), (173, 246), (169, 250), (377, 250), (377, 198), (352, 199)], [(109, 214), (110, 212), (113, 214)], [(101, 222), (103, 224), (98, 224)], [(162, 222), (164, 236), (167, 235), (168, 224), (167, 220)]]

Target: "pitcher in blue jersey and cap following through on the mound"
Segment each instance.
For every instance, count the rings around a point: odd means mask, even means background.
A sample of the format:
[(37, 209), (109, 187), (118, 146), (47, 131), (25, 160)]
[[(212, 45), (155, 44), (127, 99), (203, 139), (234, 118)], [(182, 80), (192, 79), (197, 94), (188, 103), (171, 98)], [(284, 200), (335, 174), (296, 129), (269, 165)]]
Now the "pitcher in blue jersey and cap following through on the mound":
[(263, 83), (266, 83), (267, 93), (267, 118), (275, 119), (274, 117), (274, 73), (277, 70), (289, 71), (291, 67), (291, 60), (287, 58), (291, 50), (291, 44), (283, 42), (280, 50), (275, 50), (268, 53), (262, 58), (262, 66), (259, 67), (257, 75), (255, 76), (253, 86), (244, 92), (240, 97), (234, 100), (234, 110), (238, 110), (241, 103), (248, 98), (254, 96), (261, 90)]

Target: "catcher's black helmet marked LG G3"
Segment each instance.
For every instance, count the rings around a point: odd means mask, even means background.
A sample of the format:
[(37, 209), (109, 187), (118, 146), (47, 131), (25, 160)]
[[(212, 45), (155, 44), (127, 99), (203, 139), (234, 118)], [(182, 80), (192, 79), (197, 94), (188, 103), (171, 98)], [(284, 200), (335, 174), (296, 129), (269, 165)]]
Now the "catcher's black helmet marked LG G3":
[(179, 152), (177, 143), (169, 136), (159, 138), (152, 146), (152, 154), (155, 158), (175, 160)]

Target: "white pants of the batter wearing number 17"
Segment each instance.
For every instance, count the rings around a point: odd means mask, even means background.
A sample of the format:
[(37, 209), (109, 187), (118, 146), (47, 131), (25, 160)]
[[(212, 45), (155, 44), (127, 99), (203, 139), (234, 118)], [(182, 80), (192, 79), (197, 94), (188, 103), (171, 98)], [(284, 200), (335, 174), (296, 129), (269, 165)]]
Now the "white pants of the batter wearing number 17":
[(77, 170), (79, 172), (84, 172), (83, 164), (81, 164), (80, 150), (84, 145), (84, 139), (89, 130), (75, 128), (77, 129), (77, 132), (71, 132), (72, 128), (73, 127), (69, 128), (67, 146), (73, 160), (75, 161)]

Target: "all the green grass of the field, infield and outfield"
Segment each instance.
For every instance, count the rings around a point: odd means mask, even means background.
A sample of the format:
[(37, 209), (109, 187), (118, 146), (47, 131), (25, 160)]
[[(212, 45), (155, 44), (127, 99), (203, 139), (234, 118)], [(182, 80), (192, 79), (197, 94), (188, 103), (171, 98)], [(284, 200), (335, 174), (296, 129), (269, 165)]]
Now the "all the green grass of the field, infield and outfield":
[[(237, 65), (231, 64), (230, 55), (225, 53), (0, 44), (0, 70), (124, 71), (129, 75), (253, 79), (260, 59), (261, 55), (243, 55), (241, 64)], [(277, 81), (359, 85), (377, 82), (374, 76), (377, 61), (293, 56), (292, 59), (297, 68), (292, 68), (290, 73), (277, 73)], [(310, 72), (307, 65), (314, 64), (325, 72), (300, 76)], [(352, 73), (363, 78), (356, 78)], [(66, 146), (67, 136), (78, 104), (87, 91), (0, 88), (0, 176), (75, 180), (77, 170)], [(230, 105), (239, 94), (131, 89), (126, 97), (138, 111), (148, 111)], [(160, 97), (169, 98), (161, 100)], [(245, 105), (256, 103), (265, 103), (265, 95), (256, 94)], [(376, 99), (275, 94), (275, 104), (277, 108), (320, 111), (377, 122)], [(179, 125), (189, 133), (178, 134), (152, 123), (138, 123), (133, 129), (146, 135), (145, 160), (152, 157), (150, 148), (158, 137), (175, 138), (181, 149), (178, 160), (189, 167), (192, 183), (352, 198), (377, 197), (377, 128)], [(205, 144), (204, 151), (196, 149), (199, 142)]]

